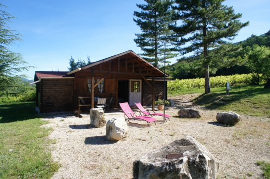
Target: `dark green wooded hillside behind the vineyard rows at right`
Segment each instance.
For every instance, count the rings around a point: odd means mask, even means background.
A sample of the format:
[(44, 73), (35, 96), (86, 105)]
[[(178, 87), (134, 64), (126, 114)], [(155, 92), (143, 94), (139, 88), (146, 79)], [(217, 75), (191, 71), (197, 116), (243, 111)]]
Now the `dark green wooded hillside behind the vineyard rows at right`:
[[(236, 42), (235, 45), (241, 45), (241, 50), (230, 54), (230, 57), (223, 56), (221, 58), (235, 58), (233, 63), (223, 63), (223, 64), (210, 64), (210, 75), (211, 76), (221, 76), (221, 75), (234, 75), (234, 74), (248, 74), (250, 71), (244, 66), (245, 61), (244, 55), (249, 51), (249, 47), (253, 45), (264, 45), (270, 47), (270, 30), (262, 35), (252, 35), (244, 41)], [(215, 51), (213, 49), (211, 52)], [(189, 79), (203, 77), (203, 72), (201, 68), (201, 55), (182, 58), (178, 62), (168, 66), (169, 75), (177, 79)], [(224, 65), (225, 64), (225, 65)]]

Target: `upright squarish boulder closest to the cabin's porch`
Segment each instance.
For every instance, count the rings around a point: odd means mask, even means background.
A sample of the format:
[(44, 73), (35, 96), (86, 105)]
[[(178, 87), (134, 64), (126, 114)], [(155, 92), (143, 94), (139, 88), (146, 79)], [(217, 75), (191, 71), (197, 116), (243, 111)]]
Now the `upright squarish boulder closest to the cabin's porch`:
[(93, 127), (103, 127), (106, 124), (104, 110), (101, 107), (90, 109), (90, 125)]

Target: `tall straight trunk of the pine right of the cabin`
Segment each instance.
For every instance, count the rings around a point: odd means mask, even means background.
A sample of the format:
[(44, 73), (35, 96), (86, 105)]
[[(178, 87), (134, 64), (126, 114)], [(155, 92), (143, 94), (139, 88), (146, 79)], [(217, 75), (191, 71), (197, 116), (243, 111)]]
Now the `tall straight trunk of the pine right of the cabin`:
[[(202, 0), (202, 8), (205, 7), (205, 0)], [(210, 93), (210, 76), (209, 76), (209, 62), (208, 62), (208, 49), (207, 42), (205, 41), (207, 35), (206, 18), (203, 18), (203, 59), (204, 59), (204, 87), (205, 93)]]

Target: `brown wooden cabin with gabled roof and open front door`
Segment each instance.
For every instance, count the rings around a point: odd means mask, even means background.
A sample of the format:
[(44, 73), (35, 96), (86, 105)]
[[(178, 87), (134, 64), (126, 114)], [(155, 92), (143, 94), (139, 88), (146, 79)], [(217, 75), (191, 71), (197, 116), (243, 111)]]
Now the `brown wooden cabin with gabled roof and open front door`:
[(162, 71), (129, 50), (71, 72), (35, 72), (36, 105), (40, 112), (76, 111), (81, 99), (94, 108), (97, 98), (106, 98), (112, 108), (120, 102), (154, 106), (164, 96), (162, 77)]

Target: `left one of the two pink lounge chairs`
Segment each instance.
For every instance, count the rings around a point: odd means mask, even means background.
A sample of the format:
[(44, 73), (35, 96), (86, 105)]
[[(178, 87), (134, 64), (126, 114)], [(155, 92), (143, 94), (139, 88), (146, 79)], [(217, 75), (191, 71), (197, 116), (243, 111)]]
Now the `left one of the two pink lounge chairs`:
[(133, 112), (133, 110), (131, 109), (130, 105), (128, 102), (123, 102), (123, 103), (119, 103), (120, 104), (120, 107), (122, 108), (122, 110), (124, 111), (124, 116), (127, 116), (128, 117), (128, 121), (131, 120), (131, 119), (139, 119), (139, 120), (144, 120), (147, 122), (148, 124), (148, 127), (149, 126), (149, 123), (150, 122), (154, 122), (156, 121), (155, 118), (152, 118), (150, 116), (137, 116), (135, 114), (135, 112)]

